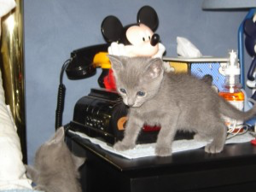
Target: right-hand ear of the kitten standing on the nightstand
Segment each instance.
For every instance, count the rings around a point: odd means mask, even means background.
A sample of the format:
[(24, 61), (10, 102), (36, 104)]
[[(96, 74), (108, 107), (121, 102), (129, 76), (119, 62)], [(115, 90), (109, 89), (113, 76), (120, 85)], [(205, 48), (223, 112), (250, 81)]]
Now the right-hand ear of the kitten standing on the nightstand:
[(146, 77), (147, 79), (155, 79), (160, 77), (163, 73), (163, 63), (160, 58), (151, 59), (148, 63), (148, 67), (146, 68)]

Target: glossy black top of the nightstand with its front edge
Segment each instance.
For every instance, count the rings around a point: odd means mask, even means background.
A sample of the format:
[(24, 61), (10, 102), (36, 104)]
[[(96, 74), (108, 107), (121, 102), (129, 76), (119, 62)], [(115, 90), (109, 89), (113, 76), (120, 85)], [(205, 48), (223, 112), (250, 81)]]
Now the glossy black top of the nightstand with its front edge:
[(200, 171), (215, 167), (256, 164), (256, 146), (251, 143), (226, 144), (219, 154), (207, 154), (204, 148), (199, 148), (177, 152), (168, 157), (150, 156), (129, 160), (112, 154), (72, 132), (67, 131), (66, 135), (120, 172), (193, 172), (195, 169)]

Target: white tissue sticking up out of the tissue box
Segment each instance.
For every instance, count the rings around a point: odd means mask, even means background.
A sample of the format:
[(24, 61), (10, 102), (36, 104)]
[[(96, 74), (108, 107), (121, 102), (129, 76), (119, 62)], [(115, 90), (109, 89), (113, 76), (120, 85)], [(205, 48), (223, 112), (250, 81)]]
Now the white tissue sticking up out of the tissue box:
[(201, 52), (187, 38), (177, 37), (177, 55), (195, 58), (201, 57)]

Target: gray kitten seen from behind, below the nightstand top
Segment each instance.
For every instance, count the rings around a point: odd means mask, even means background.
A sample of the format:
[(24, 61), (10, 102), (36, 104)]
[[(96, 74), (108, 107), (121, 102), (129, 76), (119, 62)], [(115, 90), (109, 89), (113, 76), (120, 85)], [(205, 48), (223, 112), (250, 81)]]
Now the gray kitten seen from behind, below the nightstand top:
[(64, 142), (64, 128), (44, 143), (35, 156), (34, 166), (26, 166), (26, 175), (45, 192), (81, 192), (79, 166), (84, 158), (73, 155)]

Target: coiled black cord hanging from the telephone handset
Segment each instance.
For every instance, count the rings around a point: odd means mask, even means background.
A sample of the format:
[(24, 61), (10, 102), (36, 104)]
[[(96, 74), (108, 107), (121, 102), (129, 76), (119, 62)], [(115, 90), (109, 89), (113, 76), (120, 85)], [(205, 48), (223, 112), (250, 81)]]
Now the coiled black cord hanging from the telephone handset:
[(64, 102), (65, 102), (65, 94), (66, 94), (66, 87), (63, 84), (63, 75), (70, 61), (71, 60), (68, 59), (63, 63), (63, 66), (61, 67), (60, 84), (59, 84), (58, 96), (57, 96), (57, 107), (55, 111), (55, 129), (58, 129), (62, 125), (62, 114), (64, 111)]

